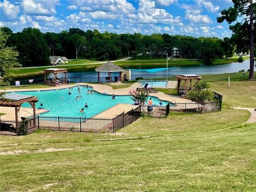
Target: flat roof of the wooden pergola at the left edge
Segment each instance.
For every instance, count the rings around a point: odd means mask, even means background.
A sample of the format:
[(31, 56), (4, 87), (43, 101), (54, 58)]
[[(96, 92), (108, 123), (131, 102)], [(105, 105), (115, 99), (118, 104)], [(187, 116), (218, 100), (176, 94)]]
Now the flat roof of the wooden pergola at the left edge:
[(7, 94), (4, 95), (4, 100), (0, 100), (0, 106), (2, 107), (19, 107), (25, 102), (37, 102), (37, 98), (31, 95), (23, 94)]

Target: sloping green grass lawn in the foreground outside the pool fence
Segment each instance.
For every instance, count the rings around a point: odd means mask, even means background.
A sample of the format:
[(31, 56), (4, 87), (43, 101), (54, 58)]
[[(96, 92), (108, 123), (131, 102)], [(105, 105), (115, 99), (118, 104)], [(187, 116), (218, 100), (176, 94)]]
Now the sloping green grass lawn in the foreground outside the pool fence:
[(256, 107), (256, 82), (244, 78), (203, 76), (223, 94), (217, 113), (145, 117), (116, 133), (0, 136), (0, 191), (254, 191), (256, 124), (228, 107)]

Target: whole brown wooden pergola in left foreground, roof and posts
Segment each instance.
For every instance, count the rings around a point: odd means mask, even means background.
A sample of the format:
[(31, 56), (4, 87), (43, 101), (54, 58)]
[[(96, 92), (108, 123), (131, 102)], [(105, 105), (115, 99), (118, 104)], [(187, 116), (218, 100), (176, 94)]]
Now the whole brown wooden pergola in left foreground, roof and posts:
[(4, 96), (4, 100), (0, 100), (0, 107), (15, 107), (15, 120), (18, 122), (18, 113), (23, 103), (28, 102), (33, 108), (33, 116), (36, 117), (37, 98), (31, 95), (9, 94)]

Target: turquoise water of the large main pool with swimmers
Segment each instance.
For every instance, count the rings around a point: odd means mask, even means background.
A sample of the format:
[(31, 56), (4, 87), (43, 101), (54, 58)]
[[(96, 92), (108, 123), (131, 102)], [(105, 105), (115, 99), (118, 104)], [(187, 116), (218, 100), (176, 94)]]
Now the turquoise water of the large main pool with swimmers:
[[(78, 87), (80, 93), (78, 92)], [(110, 107), (117, 105), (118, 103), (130, 103), (134, 102), (131, 100), (130, 96), (116, 96), (116, 99), (112, 99), (111, 95), (100, 94), (94, 91), (94, 94), (87, 94), (87, 90), (92, 90), (84, 88), (83, 86), (75, 86), (73, 89), (61, 89), (61, 90), (51, 90), (51, 91), (24, 91), (15, 92), (18, 94), (34, 95), (38, 98), (36, 103), (36, 108), (43, 103), (43, 107), (49, 112), (42, 114), (46, 116), (68, 116), (68, 117), (81, 117), (80, 109), (84, 108), (86, 117), (92, 117), (107, 110)], [(68, 94), (68, 92), (71, 94)], [(82, 95), (82, 98), (76, 100), (76, 97)], [(61, 99), (63, 97), (63, 99)], [(160, 102), (157, 98), (151, 97), (153, 103), (158, 105)], [(85, 103), (89, 107), (84, 107)], [(163, 101), (163, 105), (167, 102)], [(22, 107), (31, 107), (29, 103), (25, 103)], [(137, 106), (134, 106), (134, 108)]]

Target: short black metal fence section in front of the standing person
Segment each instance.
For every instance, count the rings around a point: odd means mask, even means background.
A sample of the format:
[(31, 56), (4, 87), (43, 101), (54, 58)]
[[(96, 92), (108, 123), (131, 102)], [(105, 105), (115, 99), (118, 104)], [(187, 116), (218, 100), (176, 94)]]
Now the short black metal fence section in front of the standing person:
[(141, 113), (151, 117), (166, 118), (170, 113), (170, 103), (166, 106), (141, 106)]

